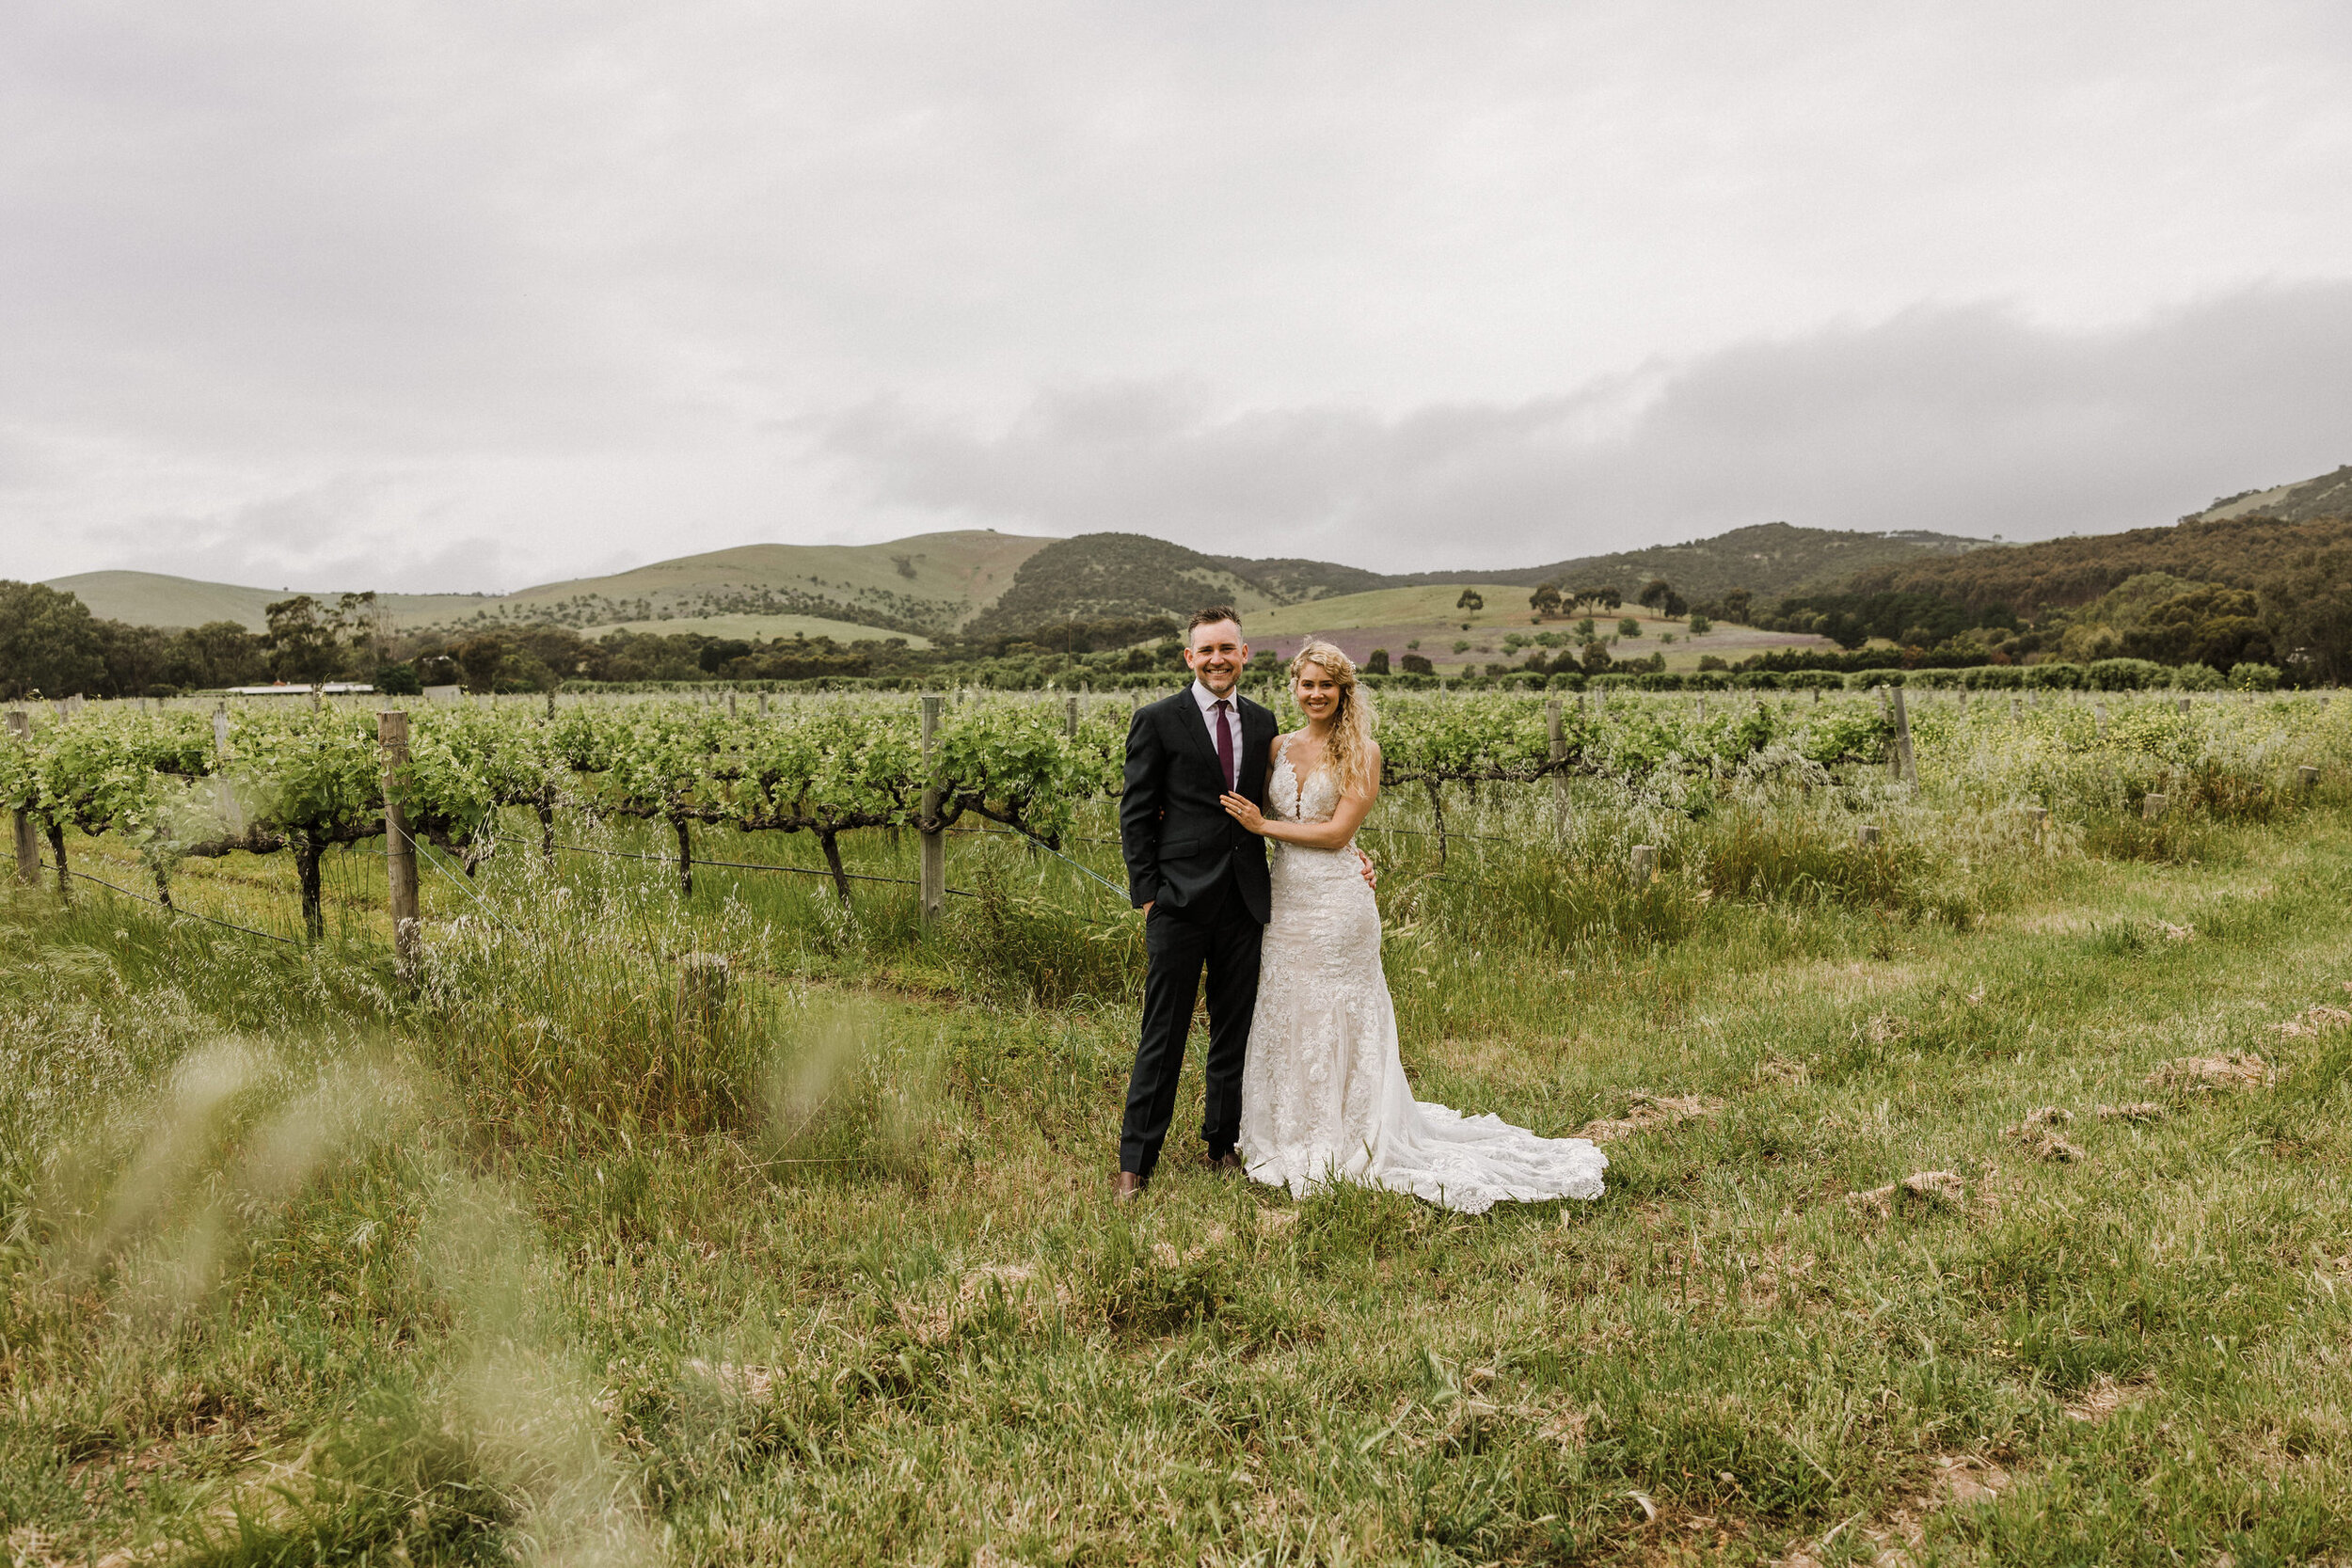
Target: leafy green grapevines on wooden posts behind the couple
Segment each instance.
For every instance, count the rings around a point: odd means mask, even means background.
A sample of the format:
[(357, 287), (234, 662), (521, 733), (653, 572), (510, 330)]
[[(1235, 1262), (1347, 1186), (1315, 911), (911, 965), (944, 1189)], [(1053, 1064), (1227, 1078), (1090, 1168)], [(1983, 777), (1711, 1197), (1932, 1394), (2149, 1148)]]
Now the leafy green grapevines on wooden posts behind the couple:
[[(1915, 693), (1917, 696), (1917, 693)], [(1837, 785), (1870, 769), (1922, 773), (1976, 797), (2194, 804), (2291, 788), (2347, 752), (2345, 708), (2291, 698), (1966, 698), (1900, 689), (1792, 701), (1618, 693), (1385, 693), (1383, 776), (1425, 795), (1444, 835), (1446, 785), (1597, 778), (1698, 809), (1724, 788)], [(922, 835), (920, 898), (943, 905), (943, 839), (960, 818), (1058, 849), (1084, 802), (1117, 795), (1129, 701), (809, 698), (760, 712), (689, 703), (421, 705), (414, 712), (226, 708), (212, 715), (113, 703), (52, 717), (16, 710), (0, 731), (0, 806), (14, 811), (19, 872), (47, 837), (64, 877), (66, 830), (134, 846), (162, 903), (186, 858), (289, 853), (303, 922), (320, 931), (320, 856), (339, 844), (423, 839), (468, 872), (494, 853), (496, 816), (536, 813), (555, 853), (557, 811), (637, 818), (675, 832), (694, 877), (699, 825), (809, 832), (847, 900), (840, 839), (870, 827)], [(1922, 757), (1926, 762), (1922, 762)], [(414, 931), (414, 849), (395, 931)]]

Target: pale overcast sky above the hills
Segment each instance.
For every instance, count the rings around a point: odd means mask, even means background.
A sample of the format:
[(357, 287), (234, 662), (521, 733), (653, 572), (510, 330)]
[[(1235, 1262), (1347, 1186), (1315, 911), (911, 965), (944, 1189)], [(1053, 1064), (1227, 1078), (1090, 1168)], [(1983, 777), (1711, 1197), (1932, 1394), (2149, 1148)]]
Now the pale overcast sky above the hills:
[(2171, 522), (2347, 169), (2343, 0), (14, 5), (0, 576)]

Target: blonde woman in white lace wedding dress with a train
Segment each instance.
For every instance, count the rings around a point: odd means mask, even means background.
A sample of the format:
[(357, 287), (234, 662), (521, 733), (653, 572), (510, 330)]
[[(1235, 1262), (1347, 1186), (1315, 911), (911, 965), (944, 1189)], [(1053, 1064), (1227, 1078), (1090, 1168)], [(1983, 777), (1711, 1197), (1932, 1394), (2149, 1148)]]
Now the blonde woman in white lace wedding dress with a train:
[(1291, 1197), (1348, 1180), (1468, 1213), (1597, 1199), (1609, 1157), (1583, 1138), (1414, 1100), (1381, 973), (1381, 910), (1350, 853), (1381, 797), (1371, 693), (1345, 654), (1310, 642), (1291, 661), (1291, 696), (1308, 722), (1272, 745), (1270, 811), (1223, 797), (1242, 827), (1275, 842), (1275, 917), (1242, 1065), (1249, 1175)]

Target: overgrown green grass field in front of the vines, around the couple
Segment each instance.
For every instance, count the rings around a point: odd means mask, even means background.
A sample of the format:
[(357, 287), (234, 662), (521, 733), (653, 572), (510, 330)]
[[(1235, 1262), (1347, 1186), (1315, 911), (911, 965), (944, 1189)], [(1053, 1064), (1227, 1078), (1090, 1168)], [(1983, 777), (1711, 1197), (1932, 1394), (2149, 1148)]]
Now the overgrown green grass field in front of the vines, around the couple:
[[(997, 837), (936, 931), (877, 884), (433, 867), (416, 997), (379, 856), (332, 858), (315, 950), (14, 891), (0, 1526), (24, 1563), (2343, 1559), (2347, 804), (2037, 832), (1856, 778), (1658, 839), (1489, 788), (1442, 867), (1369, 835), (1418, 1093), (1606, 1124), (1602, 1201), (1475, 1220), (1174, 1143), (1112, 1208), (1136, 926)], [(289, 879), (174, 891), (287, 931)]]

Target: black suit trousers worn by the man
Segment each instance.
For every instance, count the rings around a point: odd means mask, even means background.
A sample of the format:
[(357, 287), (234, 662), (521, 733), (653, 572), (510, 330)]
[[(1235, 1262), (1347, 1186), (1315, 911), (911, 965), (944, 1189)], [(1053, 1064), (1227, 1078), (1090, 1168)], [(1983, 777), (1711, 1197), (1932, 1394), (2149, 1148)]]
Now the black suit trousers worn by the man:
[(1242, 1056), (1249, 1016), (1258, 1011), (1258, 950), (1265, 926), (1228, 872), (1216, 896), (1183, 910), (1155, 905), (1143, 926), (1143, 1039), (1127, 1079), (1127, 1121), (1120, 1128), (1120, 1171), (1150, 1178), (1176, 1119), (1176, 1079), (1183, 1074), (1192, 997), (1209, 971), (1209, 1063), (1200, 1135), (1209, 1154), (1242, 1138)]

